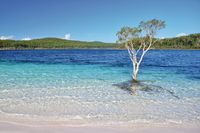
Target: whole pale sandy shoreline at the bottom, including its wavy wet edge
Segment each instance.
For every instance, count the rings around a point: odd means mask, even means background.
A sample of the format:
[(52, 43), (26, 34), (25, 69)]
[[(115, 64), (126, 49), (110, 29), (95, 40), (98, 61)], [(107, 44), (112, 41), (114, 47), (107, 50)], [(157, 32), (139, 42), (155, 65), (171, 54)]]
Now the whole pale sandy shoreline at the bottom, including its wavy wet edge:
[(0, 133), (199, 133), (200, 123), (95, 123), (79, 119), (58, 120), (5, 115), (0, 117)]

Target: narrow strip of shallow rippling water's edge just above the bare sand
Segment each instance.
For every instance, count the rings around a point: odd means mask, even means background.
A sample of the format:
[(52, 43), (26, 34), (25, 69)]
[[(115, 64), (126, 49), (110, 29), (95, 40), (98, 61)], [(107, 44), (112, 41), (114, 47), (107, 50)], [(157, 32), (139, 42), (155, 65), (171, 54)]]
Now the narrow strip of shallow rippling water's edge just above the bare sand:
[[(136, 122), (131, 122), (131, 121)], [(179, 127), (199, 127), (198, 121), (137, 121), (132, 119), (131, 121), (99, 121), (99, 120), (87, 120), (87, 119), (60, 119), (59, 117), (37, 117), (27, 116), (22, 114), (1, 114), (1, 123), (25, 125), (25, 126), (67, 126), (67, 127), (115, 127), (115, 128), (179, 128)], [(1, 128), (0, 128), (1, 129)]]

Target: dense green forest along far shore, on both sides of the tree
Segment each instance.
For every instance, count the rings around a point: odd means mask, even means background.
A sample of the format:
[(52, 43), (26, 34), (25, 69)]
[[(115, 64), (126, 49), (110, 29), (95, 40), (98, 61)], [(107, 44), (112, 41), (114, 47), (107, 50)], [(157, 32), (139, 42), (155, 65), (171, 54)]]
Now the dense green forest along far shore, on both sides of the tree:
[[(43, 38), (34, 40), (0, 40), (0, 49), (81, 49), (124, 48), (123, 44), (84, 42), (58, 38)], [(159, 39), (152, 46), (156, 49), (200, 49), (200, 33), (176, 38)]]

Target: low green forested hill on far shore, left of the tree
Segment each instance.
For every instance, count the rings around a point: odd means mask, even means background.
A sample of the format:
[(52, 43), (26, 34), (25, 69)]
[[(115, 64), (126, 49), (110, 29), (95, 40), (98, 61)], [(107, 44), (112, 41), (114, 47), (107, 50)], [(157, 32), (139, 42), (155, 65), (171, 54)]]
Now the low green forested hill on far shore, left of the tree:
[(35, 40), (0, 40), (0, 49), (81, 49), (115, 48), (115, 43), (84, 42), (58, 38)]

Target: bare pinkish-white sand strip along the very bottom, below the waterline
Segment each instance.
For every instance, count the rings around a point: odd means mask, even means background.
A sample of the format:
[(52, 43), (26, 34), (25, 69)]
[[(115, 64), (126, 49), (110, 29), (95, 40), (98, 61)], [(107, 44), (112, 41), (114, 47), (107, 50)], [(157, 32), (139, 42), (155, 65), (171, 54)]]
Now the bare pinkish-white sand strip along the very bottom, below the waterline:
[(188, 127), (78, 127), (65, 125), (25, 125), (0, 122), (0, 133), (200, 133), (200, 126)]

